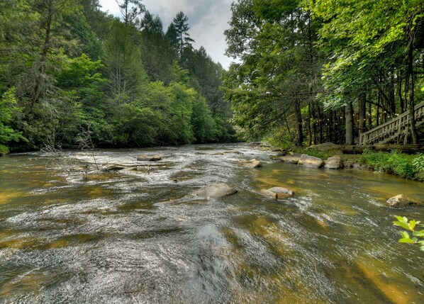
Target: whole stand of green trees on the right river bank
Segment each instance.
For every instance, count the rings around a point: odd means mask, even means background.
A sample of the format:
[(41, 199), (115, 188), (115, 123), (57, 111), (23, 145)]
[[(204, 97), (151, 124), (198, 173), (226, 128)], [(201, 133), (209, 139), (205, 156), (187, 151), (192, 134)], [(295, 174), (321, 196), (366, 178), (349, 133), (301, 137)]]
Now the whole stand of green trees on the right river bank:
[(352, 145), (424, 100), (423, 1), (237, 0), (232, 12), (240, 63), (223, 86), (246, 139)]

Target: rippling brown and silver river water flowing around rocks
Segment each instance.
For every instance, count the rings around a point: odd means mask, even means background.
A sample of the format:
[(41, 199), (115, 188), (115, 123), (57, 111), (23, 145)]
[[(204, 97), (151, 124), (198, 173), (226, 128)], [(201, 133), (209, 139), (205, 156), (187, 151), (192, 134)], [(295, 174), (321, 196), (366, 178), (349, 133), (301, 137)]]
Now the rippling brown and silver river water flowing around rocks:
[[(238, 150), (242, 154), (231, 152)], [(162, 154), (155, 164), (138, 154)], [(424, 253), (399, 244), (424, 184), (272, 162), (246, 145), (0, 158), (0, 303), (424, 303)], [(260, 169), (238, 162), (257, 158)], [(69, 170), (82, 167), (79, 170)], [(187, 201), (225, 182), (234, 196)], [(274, 201), (258, 191), (291, 188)]]

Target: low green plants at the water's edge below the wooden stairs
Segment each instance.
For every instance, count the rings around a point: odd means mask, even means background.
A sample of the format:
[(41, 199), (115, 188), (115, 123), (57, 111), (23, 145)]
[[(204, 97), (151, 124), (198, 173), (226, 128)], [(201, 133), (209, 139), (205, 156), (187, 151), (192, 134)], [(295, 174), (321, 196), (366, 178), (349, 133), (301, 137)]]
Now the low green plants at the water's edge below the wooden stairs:
[(396, 150), (391, 153), (365, 150), (359, 157), (359, 163), (376, 171), (424, 181), (423, 154), (408, 155)]

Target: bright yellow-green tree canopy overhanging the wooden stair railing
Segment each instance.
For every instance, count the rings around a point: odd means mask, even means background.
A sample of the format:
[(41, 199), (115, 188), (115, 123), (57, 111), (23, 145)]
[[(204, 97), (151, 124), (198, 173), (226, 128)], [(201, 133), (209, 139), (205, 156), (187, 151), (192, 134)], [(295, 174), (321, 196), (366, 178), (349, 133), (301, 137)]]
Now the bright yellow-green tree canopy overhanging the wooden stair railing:
[[(335, 97), (333, 102), (346, 98), (355, 102), (367, 91), (369, 94), (369, 89), (375, 89), (379, 97), (377, 103), (384, 109), (384, 114), (393, 112), (396, 110), (394, 79), (404, 78), (403, 93), (408, 99), (413, 142), (417, 142), (413, 113), (414, 50), (423, 49), (423, 45), (417, 43), (423, 35), (423, 31), (419, 30), (423, 26), (423, 1), (326, 0), (310, 1), (310, 6), (315, 16), (325, 21), (320, 35), (321, 45), (330, 51), (333, 58), (324, 70), (325, 82), (330, 89), (328, 94)], [(384, 83), (391, 84), (389, 94), (381, 88)], [(403, 109), (401, 81), (398, 91)], [(386, 100), (389, 107), (382, 100)]]

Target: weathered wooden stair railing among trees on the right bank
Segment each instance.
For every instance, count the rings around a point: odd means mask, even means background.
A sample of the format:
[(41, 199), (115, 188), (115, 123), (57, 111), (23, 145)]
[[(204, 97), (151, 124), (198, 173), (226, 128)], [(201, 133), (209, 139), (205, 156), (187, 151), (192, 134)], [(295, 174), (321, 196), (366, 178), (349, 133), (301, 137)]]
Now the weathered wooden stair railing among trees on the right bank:
[[(415, 120), (417, 126), (424, 123), (424, 102), (415, 106)], [(411, 116), (409, 115), (409, 111), (406, 111), (388, 123), (379, 125), (359, 135), (359, 145), (385, 144), (392, 140), (399, 141), (401, 137), (403, 137), (403, 142), (406, 144), (410, 123)]]

